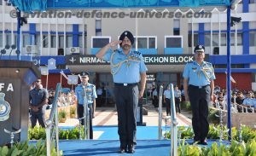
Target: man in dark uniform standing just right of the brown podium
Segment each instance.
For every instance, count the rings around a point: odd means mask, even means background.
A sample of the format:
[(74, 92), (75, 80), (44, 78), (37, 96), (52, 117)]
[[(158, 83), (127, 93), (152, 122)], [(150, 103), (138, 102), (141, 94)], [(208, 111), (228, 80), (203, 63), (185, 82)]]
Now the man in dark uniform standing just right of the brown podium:
[(49, 98), (48, 91), (43, 88), (40, 78), (33, 84), (34, 88), (29, 91), (30, 120), (32, 128), (37, 124), (37, 120), (38, 123), (45, 128), (44, 113)]

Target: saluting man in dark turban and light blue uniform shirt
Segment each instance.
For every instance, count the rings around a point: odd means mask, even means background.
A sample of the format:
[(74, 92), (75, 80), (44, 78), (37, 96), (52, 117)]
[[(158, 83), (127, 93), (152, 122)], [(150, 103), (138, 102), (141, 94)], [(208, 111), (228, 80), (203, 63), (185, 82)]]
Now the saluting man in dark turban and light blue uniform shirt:
[[(148, 70), (143, 55), (131, 49), (133, 43), (131, 32), (125, 31), (118, 41), (108, 43), (96, 54), (97, 58), (110, 61), (118, 112), (119, 153), (135, 152), (137, 104), (139, 98), (143, 98)], [(117, 49), (118, 44), (121, 49)], [(140, 90), (137, 85), (139, 82)]]

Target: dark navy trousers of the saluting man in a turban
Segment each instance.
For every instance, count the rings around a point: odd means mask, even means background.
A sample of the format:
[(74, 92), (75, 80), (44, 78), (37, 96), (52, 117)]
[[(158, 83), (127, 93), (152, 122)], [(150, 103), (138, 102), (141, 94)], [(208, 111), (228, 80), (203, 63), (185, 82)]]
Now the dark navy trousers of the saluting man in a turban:
[(136, 145), (138, 86), (114, 86), (120, 147)]

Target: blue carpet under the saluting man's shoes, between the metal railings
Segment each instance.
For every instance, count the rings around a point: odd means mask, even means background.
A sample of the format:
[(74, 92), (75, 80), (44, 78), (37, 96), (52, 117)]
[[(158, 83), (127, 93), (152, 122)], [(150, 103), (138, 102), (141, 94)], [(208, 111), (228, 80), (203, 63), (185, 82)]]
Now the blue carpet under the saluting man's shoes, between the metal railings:
[(118, 153), (118, 140), (91, 140), (91, 141), (61, 141), (60, 149), (64, 155), (170, 155), (170, 141), (167, 140), (139, 140), (137, 141), (136, 153)]

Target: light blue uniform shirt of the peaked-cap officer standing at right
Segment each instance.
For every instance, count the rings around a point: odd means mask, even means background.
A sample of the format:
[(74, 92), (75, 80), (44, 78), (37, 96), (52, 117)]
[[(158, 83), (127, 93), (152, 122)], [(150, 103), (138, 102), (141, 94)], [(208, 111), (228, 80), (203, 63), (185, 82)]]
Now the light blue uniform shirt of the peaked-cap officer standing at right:
[(214, 69), (212, 64), (207, 61), (203, 61), (201, 65), (196, 61), (188, 62), (183, 70), (183, 78), (189, 79), (191, 85), (205, 86), (215, 79)]

